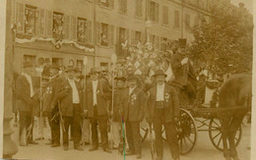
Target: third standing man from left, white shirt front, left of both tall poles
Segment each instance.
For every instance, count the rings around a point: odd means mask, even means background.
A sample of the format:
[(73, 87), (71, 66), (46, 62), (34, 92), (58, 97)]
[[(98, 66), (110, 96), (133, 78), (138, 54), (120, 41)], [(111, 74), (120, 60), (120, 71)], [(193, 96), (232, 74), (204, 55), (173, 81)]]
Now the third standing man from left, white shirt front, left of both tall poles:
[(82, 88), (78, 81), (74, 80), (76, 69), (68, 66), (67, 79), (59, 80), (57, 85), (56, 100), (60, 102), (60, 112), (64, 120), (63, 147), (68, 150), (69, 127), (71, 126), (74, 148), (83, 150), (81, 140), (81, 116), (82, 116)]

